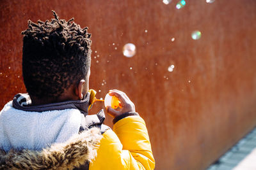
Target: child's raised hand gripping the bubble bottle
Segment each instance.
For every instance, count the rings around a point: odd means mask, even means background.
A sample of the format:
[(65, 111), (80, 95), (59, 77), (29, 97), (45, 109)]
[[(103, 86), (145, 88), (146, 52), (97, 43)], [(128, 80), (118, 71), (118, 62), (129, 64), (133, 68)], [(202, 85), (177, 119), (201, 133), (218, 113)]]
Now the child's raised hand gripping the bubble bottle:
[(126, 94), (120, 90), (109, 90), (109, 96), (115, 96), (120, 101), (120, 104), (122, 108), (117, 108), (114, 110), (110, 106), (107, 107), (107, 111), (111, 117), (117, 117), (119, 115), (122, 115), (126, 112), (135, 112), (135, 106), (132, 103), (132, 101), (129, 99), (129, 97), (126, 96)]

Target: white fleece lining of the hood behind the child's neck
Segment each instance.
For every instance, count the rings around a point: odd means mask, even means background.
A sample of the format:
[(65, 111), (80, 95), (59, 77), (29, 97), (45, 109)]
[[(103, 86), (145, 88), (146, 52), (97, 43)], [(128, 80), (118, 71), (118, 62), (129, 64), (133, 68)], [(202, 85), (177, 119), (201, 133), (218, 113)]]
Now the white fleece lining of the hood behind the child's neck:
[(0, 148), (41, 150), (62, 143), (77, 134), (84, 115), (70, 108), (49, 111), (24, 111), (13, 108), (12, 101), (0, 112)]

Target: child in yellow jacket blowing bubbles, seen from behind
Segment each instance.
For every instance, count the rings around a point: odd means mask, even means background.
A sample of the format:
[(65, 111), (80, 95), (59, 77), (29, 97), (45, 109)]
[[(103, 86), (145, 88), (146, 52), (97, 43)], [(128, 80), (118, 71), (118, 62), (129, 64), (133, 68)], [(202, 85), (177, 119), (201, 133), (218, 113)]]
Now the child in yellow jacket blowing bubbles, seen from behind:
[(109, 91), (122, 106), (107, 108), (113, 131), (103, 110), (88, 115), (91, 34), (52, 13), (22, 32), (28, 94), (0, 112), (0, 169), (154, 169), (145, 122), (124, 92)]

